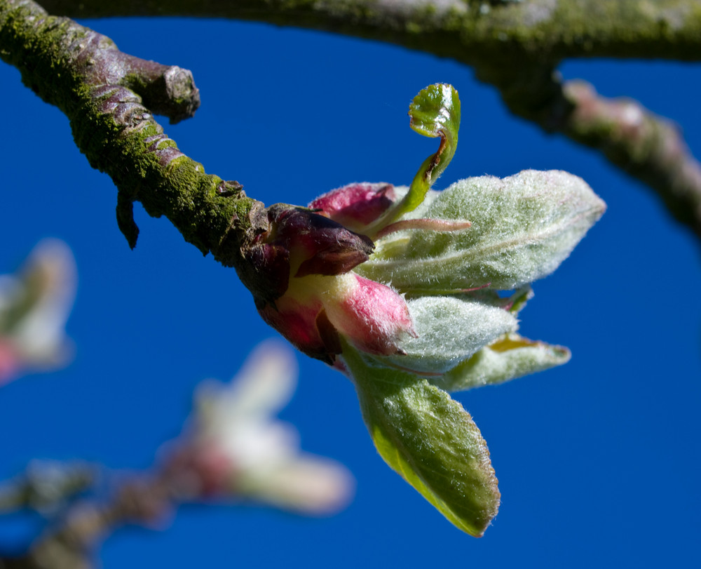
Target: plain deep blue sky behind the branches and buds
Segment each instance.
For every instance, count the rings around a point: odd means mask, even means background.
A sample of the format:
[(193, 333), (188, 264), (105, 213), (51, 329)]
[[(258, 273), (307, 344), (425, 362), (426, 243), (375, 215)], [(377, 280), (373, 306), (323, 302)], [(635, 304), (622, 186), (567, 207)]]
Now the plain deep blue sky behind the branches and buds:
[[(282, 413), (303, 447), (346, 464), (346, 511), (309, 519), (252, 507), (189, 507), (163, 532), (128, 529), (104, 568), (690, 566), (699, 558), (701, 282), (699, 245), (652, 192), (600, 156), (510, 116), (471, 69), (341, 36), (214, 20), (87, 25), (128, 53), (193, 71), (203, 105), (161, 122), (210, 173), (265, 203), (307, 203), (353, 181), (408, 183), (436, 141), (409, 129), (424, 86), (454, 84), (460, 143), (437, 187), (526, 168), (582, 176), (608, 212), (569, 260), (535, 283), (521, 332), (564, 344), (562, 368), (459, 394), (489, 443), (503, 495), (481, 540), (456, 530), (372, 446), (351, 383), (299, 356)], [(701, 156), (699, 65), (581, 60), (566, 78), (638, 98), (681, 123)], [(74, 147), (67, 119), (0, 64), (0, 273), (45, 236), (79, 268), (72, 366), (0, 389), (0, 477), (32, 457), (142, 469), (189, 411), (193, 387), (227, 380), (274, 337), (233, 270), (203, 257), (137, 206), (139, 243), (118, 232), (116, 189)], [(22, 535), (0, 522), (1, 543)]]

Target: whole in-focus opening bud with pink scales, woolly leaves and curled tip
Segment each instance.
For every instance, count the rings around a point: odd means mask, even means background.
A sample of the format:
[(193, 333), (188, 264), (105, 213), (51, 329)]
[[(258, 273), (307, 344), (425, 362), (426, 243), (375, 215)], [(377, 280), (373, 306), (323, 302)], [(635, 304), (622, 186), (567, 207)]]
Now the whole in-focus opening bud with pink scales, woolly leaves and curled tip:
[(489, 450), (447, 391), (569, 359), (517, 333), (529, 283), (552, 273), (605, 204), (561, 171), (431, 189), (455, 152), (460, 101), (421, 91), (411, 128), (440, 137), (409, 187), (354, 183), (276, 204), (242, 253), (264, 320), (353, 380), (375, 446), (458, 528), (482, 535), (500, 494)]

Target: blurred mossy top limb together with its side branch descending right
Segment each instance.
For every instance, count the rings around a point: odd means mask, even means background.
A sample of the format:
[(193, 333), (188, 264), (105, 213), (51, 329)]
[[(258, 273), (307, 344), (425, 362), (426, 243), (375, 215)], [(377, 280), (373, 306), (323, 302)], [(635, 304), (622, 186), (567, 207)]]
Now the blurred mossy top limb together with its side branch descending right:
[[(701, 60), (698, 0), (45, 0), (55, 13), (191, 15), (323, 29), (475, 67), (515, 114), (597, 149), (701, 237), (701, 167), (678, 129), (637, 102), (562, 83), (565, 58)], [(514, 65), (514, 62), (518, 65)]]

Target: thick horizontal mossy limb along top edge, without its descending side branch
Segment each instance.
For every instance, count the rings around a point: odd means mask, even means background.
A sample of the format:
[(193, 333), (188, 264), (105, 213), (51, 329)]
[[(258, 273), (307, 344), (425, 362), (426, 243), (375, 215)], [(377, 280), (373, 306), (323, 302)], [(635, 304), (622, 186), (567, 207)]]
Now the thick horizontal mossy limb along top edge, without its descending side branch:
[(191, 15), (313, 27), (475, 65), (509, 52), (539, 60), (635, 57), (699, 60), (696, 0), (46, 0), (82, 18)]

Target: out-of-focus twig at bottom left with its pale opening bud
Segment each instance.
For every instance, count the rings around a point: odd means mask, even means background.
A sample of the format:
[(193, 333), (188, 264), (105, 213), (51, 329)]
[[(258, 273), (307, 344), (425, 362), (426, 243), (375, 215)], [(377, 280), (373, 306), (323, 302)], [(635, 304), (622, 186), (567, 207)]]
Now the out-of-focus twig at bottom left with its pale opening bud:
[(254, 502), (308, 516), (340, 511), (353, 495), (353, 476), (334, 460), (301, 452), (297, 429), (274, 416), (296, 384), (292, 350), (264, 342), (235, 380), (198, 387), (182, 434), (158, 450), (151, 469), (121, 474), (34, 460), (0, 486), (0, 515), (29, 511), (48, 527), (26, 551), (0, 545), (0, 569), (97, 567), (109, 535), (126, 525), (168, 526), (183, 504)]

